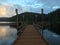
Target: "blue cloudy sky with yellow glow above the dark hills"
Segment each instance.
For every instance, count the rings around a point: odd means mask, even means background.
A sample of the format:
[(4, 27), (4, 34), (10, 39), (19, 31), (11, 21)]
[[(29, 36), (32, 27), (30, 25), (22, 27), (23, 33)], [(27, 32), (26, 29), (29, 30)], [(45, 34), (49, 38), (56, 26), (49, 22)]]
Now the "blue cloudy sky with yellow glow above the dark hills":
[(15, 15), (15, 9), (22, 12), (44, 13), (60, 8), (60, 0), (0, 0), (0, 17), (11, 17)]

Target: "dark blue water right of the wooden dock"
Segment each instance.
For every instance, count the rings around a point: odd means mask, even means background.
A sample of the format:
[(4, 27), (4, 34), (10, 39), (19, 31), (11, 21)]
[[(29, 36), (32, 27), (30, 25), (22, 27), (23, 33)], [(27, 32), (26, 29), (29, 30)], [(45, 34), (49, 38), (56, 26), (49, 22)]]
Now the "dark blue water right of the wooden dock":
[[(39, 32), (42, 34), (41, 30), (39, 30)], [(49, 45), (60, 45), (60, 35), (57, 35), (48, 29), (43, 31), (43, 37), (47, 40)]]

